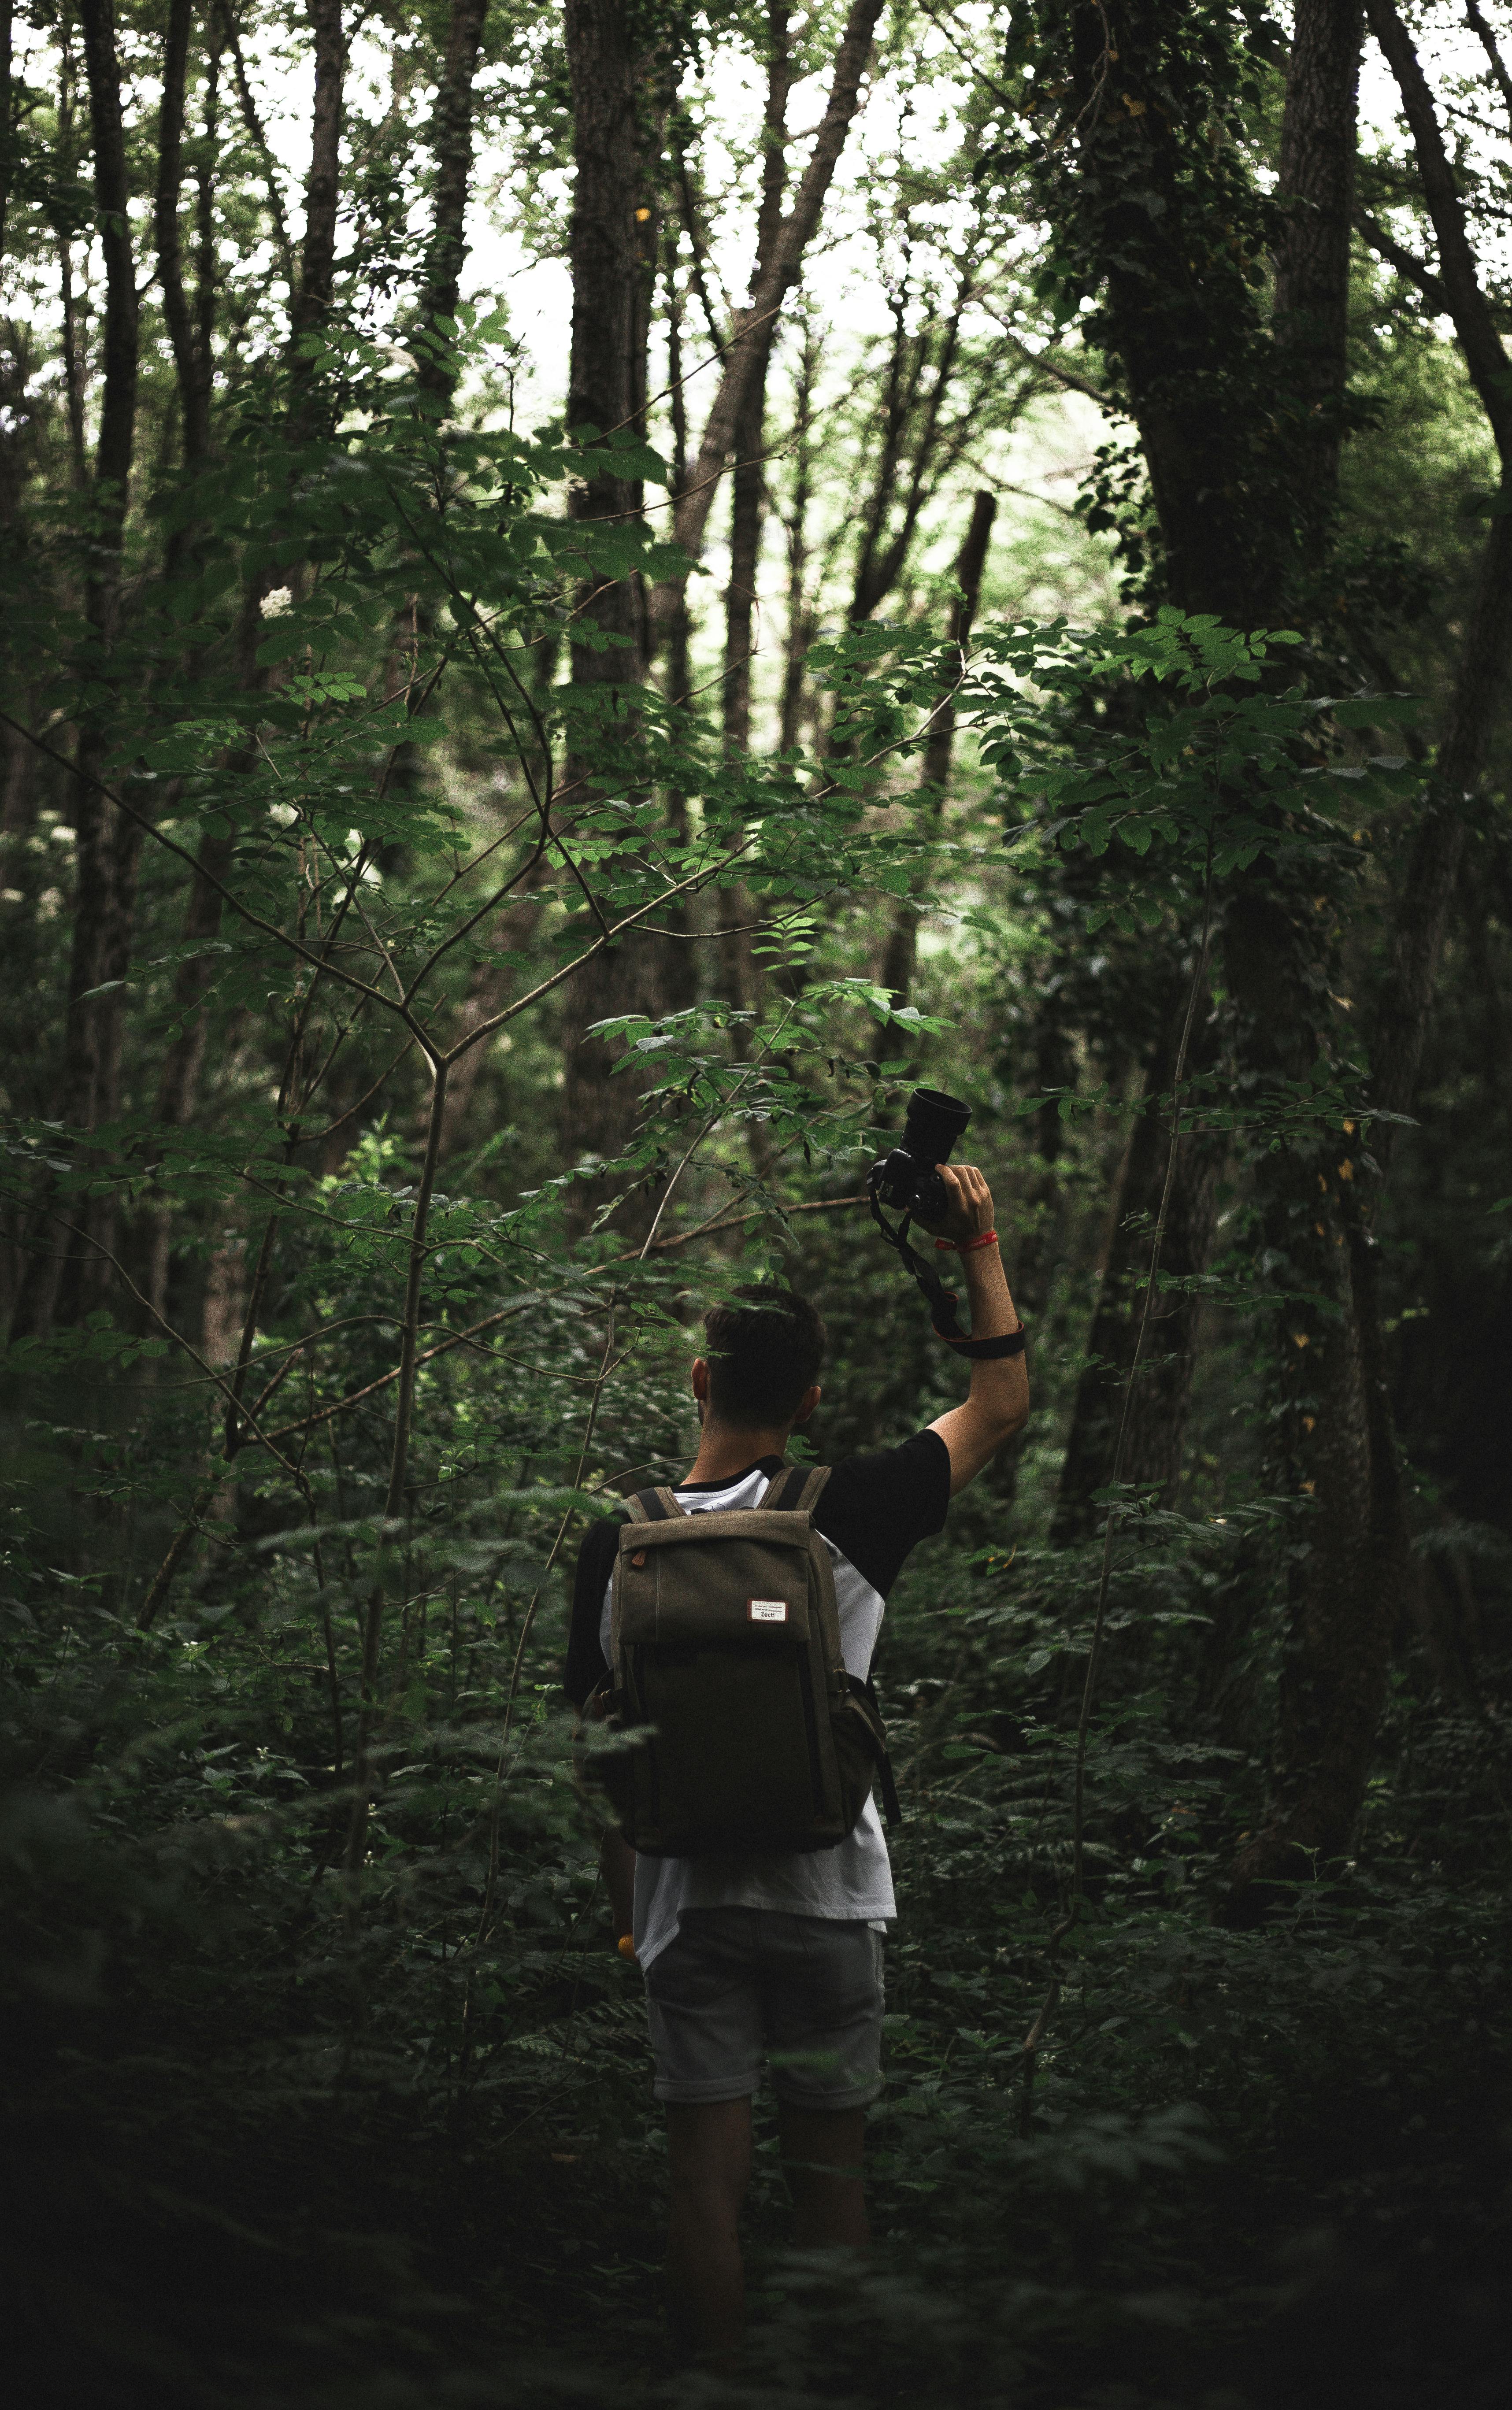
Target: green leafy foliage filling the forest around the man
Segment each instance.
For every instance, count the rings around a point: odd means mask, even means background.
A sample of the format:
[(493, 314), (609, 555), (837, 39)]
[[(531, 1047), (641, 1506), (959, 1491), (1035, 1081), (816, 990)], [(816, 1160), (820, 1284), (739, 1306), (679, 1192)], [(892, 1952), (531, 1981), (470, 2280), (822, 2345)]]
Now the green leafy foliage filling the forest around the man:
[[(1481, 484), (1483, 463), (1442, 345), (1403, 337), (1399, 313), (1355, 325), (1370, 390), (1343, 412), (1350, 533), (1326, 578), (1302, 576), (1319, 521), (1264, 304), (1278, 24), (1109, 10), (1121, 113), (1083, 123), (1095, 17), (1013, 12), (953, 130), (969, 164), (991, 152), (972, 195), (955, 152), (933, 183), (875, 169), (863, 214), (892, 374), (914, 383), (883, 427), (878, 337), (851, 390), (815, 405), (817, 434), (796, 388), (789, 448), (810, 446), (830, 552), (808, 588), (793, 571), (803, 711), (781, 747), (736, 750), (702, 687), (639, 682), (629, 641), (584, 607), (687, 569), (654, 533), (666, 521), (569, 509), (605, 468), (661, 494), (666, 422), (649, 439), (579, 427), (572, 446), (521, 434), (502, 311), (410, 325), (427, 169), (403, 154), (400, 101), (429, 89), (436, 12), (386, 19), (398, 113), (367, 96), (350, 113), (357, 268), (294, 347), (263, 258), (277, 183), (241, 123), (212, 210), (215, 443), (193, 470), (174, 465), (145, 299), (162, 441), (113, 619), (89, 605), (104, 516), (68, 468), (63, 386), (22, 378), (2, 701), (41, 747), (7, 754), (7, 807), (31, 819), (7, 819), (0, 904), (19, 1287), (0, 1407), (0, 2020), (24, 2077), (7, 2140), (31, 2227), (29, 2398), (690, 2398), (654, 2302), (666, 2140), (644, 2010), (559, 1701), (569, 1566), (627, 1482), (687, 1463), (692, 1326), (738, 1282), (791, 1275), (825, 1309), (825, 1460), (960, 1400), (960, 1366), (858, 1236), (863, 1166), (916, 1077), (974, 1101), (1037, 1417), (919, 1552), (885, 1632), (907, 1824), (878, 2265), (856, 2280), (786, 2251), (762, 2111), (755, 2355), (702, 2398), (1495, 2398), (1512, 1340), (1490, 805), (1423, 1128), (1379, 1219), (1416, 1588), (1365, 1815), (1353, 1856), (1280, 1887), (1266, 1926), (1225, 1921), (1317, 1545), (1305, 1487), (1276, 1475), (1278, 1432), (1317, 1400), (1278, 1391), (1271, 1333), (1295, 1309), (1314, 1345), (1336, 1313), (1312, 1191), (1341, 1157), (1370, 1171), (1360, 1031), (1420, 790), (1416, 759), (1367, 750), (1396, 730), (1416, 747), (1416, 704), (1377, 692), (1396, 680), (1355, 636), (1389, 629), (1411, 684), (1440, 692), (1440, 622), (1466, 586), (1449, 501), (1464, 455)], [(258, 24), (282, 39), (277, 12)], [(654, 31), (670, 77), (726, 41), (762, 55), (772, 24), (658, 12)], [(808, 70), (830, 34), (827, 17), (801, 29)], [(157, 22), (133, 19), (130, 41), (147, 36)], [(899, 17), (892, 63), (907, 41)], [(562, 248), (557, 29), (490, 10), (485, 55), (482, 125), (506, 130), (523, 219)], [(907, 75), (919, 99), (928, 75)], [(994, 147), (1003, 92), (1030, 133)], [(673, 149), (697, 133), (687, 94), (649, 116)], [(34, 265), (94, 202), (77, 123), (65, 140), (29, 89), (19, 125)], [(731, 135), (736, 190), (755, 157)], [(140, 193), (152, 166), (133, 128)], [(991, 248), (998, 205), (1015, 236), (1039, 229), (1022, 265)], [(897, 460), (943, 376), (953, 277), (1008, 296), (1037, 340), (1076, 316), (1114, 410), (1133, 340), (1162, 352), (1143, 390), (1223, 429), (1213, 492), (1244, 496), (1235, 576), (1300, 634), (1162, 602), (1145, 465), (1119, 439), (1066, 542), (1095, 588), (1107, 547), (1085, 537), (1112, 535), (1148, 615), (1076, 624), (1061, 557), (1044, 571), (1015, 537), (998, 559), (1056, 588), (1047, 612), (1001, 586), (969, 646), (943, 641), (928, 509), (955, 489), (921, 453), (919, 492), (936, 484), (919, 501)], [(967, 446), (1044, 381), (974, 323), (960, 345), (943, 455), (977, 475)], [(456, 374), (463, 402), (417, 369)], [(873, 554), (919, 511), (928, 540), (904, 542), (885, 617), (842, 624), (873, 472)], [(772, 458), (769, 477), (796, 559), (798, 468)], [(919, 783), (943, 704), (948, 790)], [(137, 841), (135, 940), (75, 978), (70, 913), (99, 846)], [(1158, 1287), (1162, 1311), (1203, 1301), (1194, 1417), (1165, 1497), (1100, 1492), (1114, 1547), (1085, 1897), (1030, 2089), (1097, 1600), (1097, 1552), (1047, 1540), (1088, 1306), (1129, 1133), (1167, 1109), (1172, 995), (1208, 923), (1223, 937), (1256, 892), (1317, 916), (1314, 1051), (1268, 1080), (1240, 1068), (1218, 945), (1184, 1082), (1186, 1128), (1225, 1142), (1218, 1246)], [(914, 911), (899, 1007), (887, 942)], [(738, 976), (728, 933), (757, 976)], [(632, 969), (651, 950), (646, 1000)], [(584, 1034), (613, 1065), (603, 1147), (562, 1111)], [(68, 1082), (89, 1048), (118, 1087), (82, 1116)], [(174, 1101), (191, 1056), (198, 1087)], [(1266, 1166), (1293, 1181), (1290, 1219), (1266, 1205)], [(1150, 1224), (1124, 1215), (1124, 1236), (1148, 1244)], [(55, 1311), (31, 1311), (48, 1265)], [(1437, 2290), (1432, 2265), (1452, 2268)]]

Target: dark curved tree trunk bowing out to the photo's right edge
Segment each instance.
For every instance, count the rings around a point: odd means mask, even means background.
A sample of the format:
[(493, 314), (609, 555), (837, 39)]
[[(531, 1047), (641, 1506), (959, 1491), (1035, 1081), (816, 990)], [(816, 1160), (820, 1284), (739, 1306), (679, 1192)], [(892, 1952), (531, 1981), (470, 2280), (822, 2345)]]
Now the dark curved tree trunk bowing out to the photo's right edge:
[[(1312, 5), (1324, 12), (1321, 0)], [(1444, 299), (1507, 477), (1512, 468), (1507, 354), (1481, 289), (1432, 94), (1389, 0), (1367, 0), (1367, 14), (1396, 75), (1423, 198), (1437, 234)], [(1512, 521), (1495, 518), (1428, 803), (1396, 906), (1389, 976), (1375, 1015), (1370, 1089), (1384, 1111), (1406, 1113), (1413, 1104), (1464, 856), (1464, 805), (1485, 771), (1490, 735), (1505, 706), (1510, 660)], [(1273, 971), (1266, 971), (1256, 981), (1259, 1010), (1266, 1010), (1264, 986), (1271, 976)], [(1391, 1123), (1377, 1123), (1372, 1130), (1370, 1145), (1382, 1176), (1394, 1135)], [(1350, 1178), (1343, 1178), (1346, 1169)], [(1235, 1861), (1230, 1892), (1235, 1918), (1247, 1918), (1264, 1904), (1256, 1885), (1305, 1873), (1312, 1853), (1331, 1858), (1348, 1848), (1387, 1697), (1391, 1627), (1406, 1607), (1411, 1586), (1406, 1482), (1391, 1427), (1377, 1251), (1370, 1229), (1379, 1183), (1375, 1191), (1365, 1186), (1370, 1174), (1358, 1166), (1355, 1150), (1343, 1145), (1338, 1164), (1317, 1169), (1314, 1178), (1317, 1193), (1307, 1169), (1297, 1166), (1290, 1200), (1280, 1195), (1271, 1217), (1280, 1227), (1290, 1203), (1293, 1260), (1297, 1260), (1295, 1232), (1312, 1217), (1319, 1248), (1300, 1270), (1309, 1287), (1321, 1287), (1334, 1311), (1321, 1323), (1307, 1316), (1290, 1318), (1293, 1383), (1312, 1379), (1312, 1412), (1302, 1415), (1297, 1405), (1293, 1415), (1293, 1422), (1302, 1424), (1293, 1436), (1293, 1453), (1297, 1480), (1314, 1501), (1314, 1516), (1307, 1530), (1309, 1554), (1293, 1586), (1273, 1786), (1259, 1832)]]

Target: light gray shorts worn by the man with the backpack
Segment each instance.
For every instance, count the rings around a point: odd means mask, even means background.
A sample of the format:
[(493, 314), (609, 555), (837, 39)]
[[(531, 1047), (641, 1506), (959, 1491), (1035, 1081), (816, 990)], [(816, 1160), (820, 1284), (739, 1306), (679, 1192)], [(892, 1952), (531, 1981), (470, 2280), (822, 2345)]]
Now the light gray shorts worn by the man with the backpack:
[(646, 1969), (658, 2102), (772, 2089), (798, 2109), (866, 2109), (883, 2089), (883, 1935), (781, 1909), (685, 1909)]

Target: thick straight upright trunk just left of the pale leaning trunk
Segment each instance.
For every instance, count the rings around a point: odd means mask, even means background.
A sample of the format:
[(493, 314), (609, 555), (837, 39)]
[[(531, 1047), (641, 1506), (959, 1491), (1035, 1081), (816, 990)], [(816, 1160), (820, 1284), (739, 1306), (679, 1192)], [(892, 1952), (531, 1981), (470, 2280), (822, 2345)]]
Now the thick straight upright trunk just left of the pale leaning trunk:
[[(637, 53), (629, 0), (567, 0), (567, 65), (572, 72), (572, 364), (567, 431), (593, 427), (610, 434), (641, 424), (646, 398), (646, 308), (641, 299), (641, 154), (637, 125)], [(572, 492), (576, 521), (632, 518), (641, 509), (641, 484), (600, 468)], [(586, 581), (579, 590), (576, 627), (593, 627), (603, 648), (572, 646), (572, 684), (586, 689), (634, 689), (644, 682), (649, 629), (644, 593), (634, 578)], [(564, 783), (584, 778), (581, 759), (567, 762)], [(581, 800), (581, 798), (579, 798)], [(637, 1121), (639, 1092), (615, 1080), (617, 1056), (588, 1027), (617, 1012), (656, 1012), (656, 947), (627, 937), (608, 947), (567, 986), (562, 1007), (564, 1084), (562, 1145), (567, 1159), (584, 1154), (613, 1162)], [(613, 1178), (579, 1181), (569, 1219), (584, 1229), (615, 1193)], [(620, 1212), (632, 1232), (649, 1219), (639, 1203)]]

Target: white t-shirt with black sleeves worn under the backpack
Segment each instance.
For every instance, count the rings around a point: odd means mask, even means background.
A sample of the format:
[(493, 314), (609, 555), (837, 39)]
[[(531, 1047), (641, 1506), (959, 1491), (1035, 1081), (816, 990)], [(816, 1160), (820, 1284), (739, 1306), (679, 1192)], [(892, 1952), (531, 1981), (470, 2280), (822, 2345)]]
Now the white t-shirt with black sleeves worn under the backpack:
[[(695, 1482), (675, 1489), (673, 1497), (687, 1513), (760, 1506), (779, 1463), (776, 1456), (767, 1456), (731, 1482)], [(858, 1675), (858, 1680), (871, 1673), (885, 1593), (909, 1547), (940, 1530), (948, 1499), (950, 1451), (938, 1432), (919, 1432), (902, 1448), (885, 1448), (878, 1456), (846, 1458), (820, 1494), (815, 1528), (834, 1566), (839, 1646), (846, 1673)], [(596, 1526), (579, 1557), (567, 1680), (579, 1706), (610, 1663), (617, 1530), (617, 1523)], [(593, 1598), (598, 1600), (593, 1632), (598, 1663), (588, 1658), (584, 1646)], [(892, 1899), (892, 1868), (875, 1795), (868, 1798), (856, 1827), (837, 1848), (637, 1858), (634, 1950), (641, 1967), (649, 1967), (675, 1938), (685, 1909), (781, 1909), (789, 1916), (837, 1916), (880, 1926), (897, 1914), (897, 1901)]]

